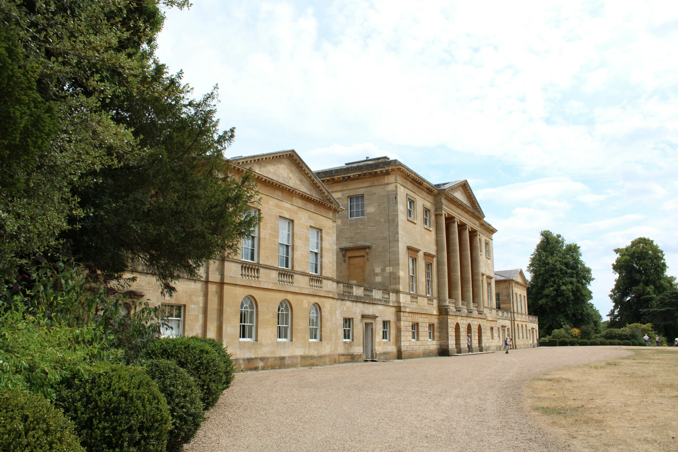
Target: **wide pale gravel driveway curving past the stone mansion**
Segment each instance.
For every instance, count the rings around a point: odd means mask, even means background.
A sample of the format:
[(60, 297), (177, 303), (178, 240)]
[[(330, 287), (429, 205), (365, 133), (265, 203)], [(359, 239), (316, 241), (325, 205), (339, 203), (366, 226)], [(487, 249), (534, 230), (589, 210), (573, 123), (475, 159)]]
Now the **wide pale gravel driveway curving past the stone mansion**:
[(570, 450), (521, 409), (523, 384), (626, 354), (545, 347), (239, 373), (185, 450)]

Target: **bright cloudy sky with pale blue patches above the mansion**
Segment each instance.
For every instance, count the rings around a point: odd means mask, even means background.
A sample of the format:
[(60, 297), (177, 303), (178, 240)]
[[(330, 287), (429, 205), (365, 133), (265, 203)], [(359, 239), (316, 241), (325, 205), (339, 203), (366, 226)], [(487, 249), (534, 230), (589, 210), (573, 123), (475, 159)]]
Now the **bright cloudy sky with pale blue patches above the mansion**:
[(496, 270), (559, 232), (603, 316), (615, 247), (650, 237), (678, 275), (678, 3), (193, 1), (158, 54), (196, 94), (218, 83), (227, 157), (388, 155), (468, 179)]

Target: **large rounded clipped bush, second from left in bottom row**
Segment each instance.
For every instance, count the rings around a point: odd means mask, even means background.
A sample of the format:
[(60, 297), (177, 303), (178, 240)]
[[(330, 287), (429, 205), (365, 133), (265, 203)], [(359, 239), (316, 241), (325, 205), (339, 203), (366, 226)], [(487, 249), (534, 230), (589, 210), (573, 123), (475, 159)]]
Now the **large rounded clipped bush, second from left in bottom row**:
[(165, 396), (139, 367), (109, 365), (70, 379), (54, 405), (71, 417), (88, 452), (165, 452), (172, 418)]

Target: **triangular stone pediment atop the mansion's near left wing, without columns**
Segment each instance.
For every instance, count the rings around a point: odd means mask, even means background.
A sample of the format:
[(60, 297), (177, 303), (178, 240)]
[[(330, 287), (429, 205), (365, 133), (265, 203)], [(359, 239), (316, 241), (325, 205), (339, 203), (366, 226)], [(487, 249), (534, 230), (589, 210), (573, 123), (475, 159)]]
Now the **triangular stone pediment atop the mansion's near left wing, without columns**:
[(249, 157), (235, 157), (229, 161), (241, 167), (252, 168), (252, 171), (266, 178), (339, 206), (330, 190), (327, 190), (327, 187), (293, 149)]

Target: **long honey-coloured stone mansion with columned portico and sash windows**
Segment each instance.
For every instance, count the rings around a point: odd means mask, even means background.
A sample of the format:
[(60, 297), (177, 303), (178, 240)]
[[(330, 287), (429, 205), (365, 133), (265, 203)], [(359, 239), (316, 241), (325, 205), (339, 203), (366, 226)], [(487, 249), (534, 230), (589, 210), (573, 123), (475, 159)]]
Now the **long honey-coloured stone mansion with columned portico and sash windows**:
[(492, 235), (466, 180), (432, 184), (388, 157), (311, 171), (294, 150), (252, 168), (262, 220), (239, 255), (205, 262), (162, 304), (166, 335), (214, 337), (239, 370), (449, 356), (538, 346), (522, 270), (494, 270)]

